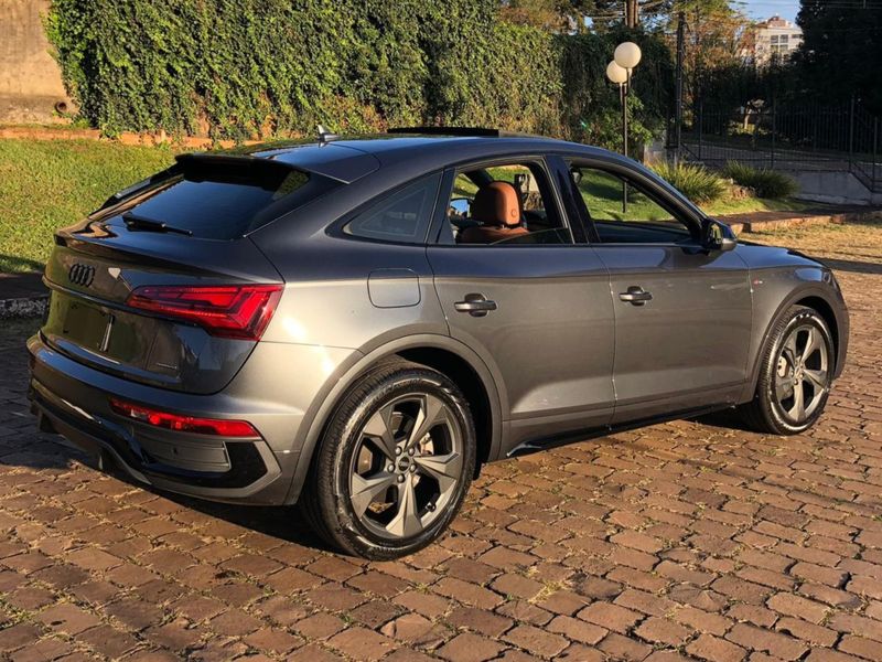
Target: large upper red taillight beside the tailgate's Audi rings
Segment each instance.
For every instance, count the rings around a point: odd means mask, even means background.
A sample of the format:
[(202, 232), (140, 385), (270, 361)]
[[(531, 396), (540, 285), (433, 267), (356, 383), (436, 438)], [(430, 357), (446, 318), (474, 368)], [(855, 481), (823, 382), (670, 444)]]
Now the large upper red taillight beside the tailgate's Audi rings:
[(281, 292), (280, 285), (147, 285), (132, 290), (126, 303), (195, 322), (212, 335), (260, 340)]

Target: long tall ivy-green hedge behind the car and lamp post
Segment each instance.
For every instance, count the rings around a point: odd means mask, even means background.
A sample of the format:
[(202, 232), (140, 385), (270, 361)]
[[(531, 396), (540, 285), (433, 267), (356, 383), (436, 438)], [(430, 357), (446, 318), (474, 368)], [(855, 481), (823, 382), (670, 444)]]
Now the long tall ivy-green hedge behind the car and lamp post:
[(46, 31), (80, 114), (123, 130), (245, 139), (460, 124), (595, 142), (617, 137), (604, 76), (628, 36), (636, 136), (669, 106), (654, 36), (553, 35), (498, 20), (497, 0), (53, 0)]

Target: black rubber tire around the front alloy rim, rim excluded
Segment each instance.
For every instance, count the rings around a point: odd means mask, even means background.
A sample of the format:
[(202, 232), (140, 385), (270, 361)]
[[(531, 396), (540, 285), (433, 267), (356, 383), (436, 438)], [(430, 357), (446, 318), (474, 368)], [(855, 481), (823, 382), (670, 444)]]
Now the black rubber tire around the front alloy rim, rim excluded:
[(803, 423), (794, 425), (781, 412), (781, 405), (775, 396), (775, 372), (777, 371), (777, 357), (781, 353), (782, 345), (789, 337), (790, 332), (799, 325), (809, 323), (815, 327), (824, 338), (825, 348), (827, 350), (827, 366), (828, 373), (833, 373), (836, 355), (833, 352), (833, 342), (830, 330), (815, 310), (803, 306), (790, 308), (787, 314), (775, 325), (775, 333), (773, 342), (766, 352), (763, 361), (763, 373), (760, 376), (760, 388), (757, 396), (766, 421), (770, 426), (781, 435), (797, 435), (815, 425), (815, 421), (824, 413), (829, 397), (830, 389), (825, 389), (818, 406)]

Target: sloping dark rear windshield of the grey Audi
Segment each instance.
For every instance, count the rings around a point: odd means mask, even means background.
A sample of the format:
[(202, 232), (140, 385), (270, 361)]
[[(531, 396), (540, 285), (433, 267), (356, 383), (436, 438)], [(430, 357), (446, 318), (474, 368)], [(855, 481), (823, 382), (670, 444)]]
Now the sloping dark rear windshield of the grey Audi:
[(195, 237), (234, 239), (315, 197), (330, 182), (287, 166), (255, 161), (179, 160), (165, 177), (136, 190), (114, 213), (132, 212)]

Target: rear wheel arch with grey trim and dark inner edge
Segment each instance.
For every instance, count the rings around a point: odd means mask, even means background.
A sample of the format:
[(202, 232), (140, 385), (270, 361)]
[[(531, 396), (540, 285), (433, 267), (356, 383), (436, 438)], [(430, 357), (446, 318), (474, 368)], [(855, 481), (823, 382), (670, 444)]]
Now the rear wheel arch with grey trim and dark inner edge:
[[(341, 399), (366, 373), (384, 361), (399, 356), (447, 374), (463, 391), (475, 417), (478, 466), (498, 456), (502, 445), (501, 396), (487, 365), (465, 344), (445, 335), (423, 334), (390, 341), (344, 366), (327, 380), (329, 387), (314, 415), (304, 419), (302, 439), (287, 503), (294, 503), (305, 482), (319, 441)], [(464, 380), (464, 382), (461, 382)]]

